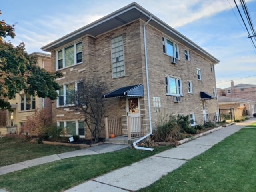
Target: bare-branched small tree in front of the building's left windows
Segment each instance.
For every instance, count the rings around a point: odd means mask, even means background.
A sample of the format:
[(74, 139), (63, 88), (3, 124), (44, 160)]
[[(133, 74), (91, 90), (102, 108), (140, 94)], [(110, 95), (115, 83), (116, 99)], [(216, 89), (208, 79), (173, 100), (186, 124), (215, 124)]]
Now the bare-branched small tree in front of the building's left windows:
[(77, 89), (73, 92), (72, 108), (76, 112), (84, 114), (84, 121), (89, 128), (95, 142), (98, 142), (100, 134), (105, 127), (102, 123), (105, 117), (104, 103), (102, 96), (106, 93), (106, 86), (98, 78), (84, 78), (77, 84)]

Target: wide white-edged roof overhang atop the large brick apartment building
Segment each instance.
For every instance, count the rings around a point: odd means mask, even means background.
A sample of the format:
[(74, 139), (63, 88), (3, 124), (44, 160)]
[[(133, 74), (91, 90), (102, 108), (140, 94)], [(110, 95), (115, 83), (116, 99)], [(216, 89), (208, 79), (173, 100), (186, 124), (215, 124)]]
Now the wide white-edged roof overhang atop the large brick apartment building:
[(51, 52), (56, 48), (64, 46), (65, 44), (72, 42), (76, 39), (82, 38), (86, 35), (96, 37), (100, 34), (123, 26), (124, 24), (128, 24), (137, 19), (141, 19), (144, 22), (146, 22), (150, 19), (150, 16), (151, 20), (148, 24), (150, 24), (151, 26), (162, 31), (164, 34), (172, 37), (174, 40), (180, 42), (184, 46), (188, 47), (190, 50), (193, 50), (194, 52), (200, 54), (213, 64), (217, 64), (220, 62), (217, 58), (206, 52), (200, 46), (186, 38), (184, 35), (176, 31), (174, 28), (170, 27), (168, 24), (166, 24), (165, 22), (163, 22), (162, 20), (148, 12), (146, 9), (138, 5), (136, 2), (133, 2), (99, 20), (96, 20), (95, 22), (92, 22), (78, 30), (75, 30), (74, 32), (71, 32), (70, 34), (63, 36), (62, 38), (59, 38), (54, 42), (51, 42), (50, 44), (43, 46), (41, 49), (47, 52)]

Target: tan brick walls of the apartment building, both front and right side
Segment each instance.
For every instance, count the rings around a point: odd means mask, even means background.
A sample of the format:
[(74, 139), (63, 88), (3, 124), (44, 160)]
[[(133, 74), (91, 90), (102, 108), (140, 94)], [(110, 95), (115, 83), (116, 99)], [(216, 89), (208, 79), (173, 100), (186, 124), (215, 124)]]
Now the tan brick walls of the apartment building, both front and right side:
[[(96, 38), (90, 36), (83, 37), (83, 63), (61, 70), (64, 76), (56, 82), (66, 84), (80, 80), (83, 77), (96, 75), (101, 81), (106, 83), (109, 92), (124, 86), (144, 84), (144, 97), (140, 98), (140, 109), (144, 118), (144, 127), (149, 130), (143, 24), (142, 20), (136, 20)], [(200, 91), (212, 94), (213, 88), (216, 86), (215, 74), (211, 72), (210, 68), (211, 62), (192, 50), (189, 50), (190, 61), (185, 60), (184, 46), (179, 44), (180, 60), (178, 60), (176, 65), (171, 64), (170, 57), (163, 54), (162, 51), (162, 36), (166, 35), (150, 25), (146, 26), (146, 34), (153, 124), (156, 122), (157, 115), (159, 114), (153, 108), (153, 97), (161, 97), (161, 112), (165, 110), (169, 114), (184, 115), (193, 112), (198, 124), (202, 124), (203, 115)], [(125, 76), (113, 79), (110, 40), (120, 35), (123, 36)], [(202, 81), (197, 80), (197, 68), (201, 69)], [(56, 50), (52, 52), (52, 70), (56, 70)], [(165, 75), (172, 75), (182, 79), (183, 97), (180, 103), (174, 103), (172, 96), (166, 96)], [(188, 94), (187, 80), (192, 81), (194, 94)], [(126, 107), (126, 98), (106, 99), (106, 115), (109, 118), (122, 117), (123, 129), (126, 130), (127, 112), (124, 110), (124, 107)], [(215, 113), (216, 111), (218, 111), (217, 100), (206, 100), (206, 113)], [(56, 108), (56, 101), (53, 103), (52, 113), (54, 122), (83, 119), (82, 114), (70, 112), (68, 108)], [(86, 130), (86, 134), (88, 133), (88, 130)], [(90, 137), (90, 134), (87, 137)]]

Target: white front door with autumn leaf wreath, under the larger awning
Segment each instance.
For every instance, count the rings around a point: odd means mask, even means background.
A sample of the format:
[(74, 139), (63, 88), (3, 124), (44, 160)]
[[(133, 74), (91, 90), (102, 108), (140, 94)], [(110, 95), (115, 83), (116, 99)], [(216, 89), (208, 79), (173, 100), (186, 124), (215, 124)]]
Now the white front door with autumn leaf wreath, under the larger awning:
[(139, 98), (127, 98), (126, 102), (127, 116), (132, 118), (132, 134), (140, 134), (142, 132), (142, 129)]

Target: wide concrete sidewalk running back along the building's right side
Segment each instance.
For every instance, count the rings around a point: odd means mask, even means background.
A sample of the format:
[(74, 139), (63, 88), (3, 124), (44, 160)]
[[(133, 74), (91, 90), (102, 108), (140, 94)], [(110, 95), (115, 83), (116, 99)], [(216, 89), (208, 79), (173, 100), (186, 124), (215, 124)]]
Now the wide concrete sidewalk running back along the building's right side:
[(94, 178), (65, 192), (127, 192), (139, 190), (153, 184), (191, 158), (205, 152), (224, 138), (255, 121), (255, 118), (251, 118), (242, 123), (224, 127), (176, 148)]

